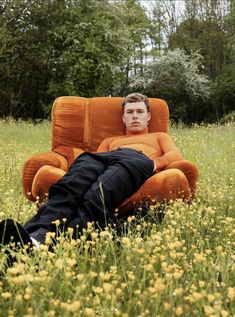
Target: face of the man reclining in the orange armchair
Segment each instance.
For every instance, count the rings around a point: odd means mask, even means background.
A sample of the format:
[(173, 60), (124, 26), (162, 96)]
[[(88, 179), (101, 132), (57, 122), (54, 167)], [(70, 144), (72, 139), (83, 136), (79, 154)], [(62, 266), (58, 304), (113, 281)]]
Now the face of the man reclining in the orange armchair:
[(147, 128), (150, 118), (151, 114), (147, 111), (147, 107), (143, 101), (125, 104), (122, 121), (126, 126), (127, 132), (143, 132)]

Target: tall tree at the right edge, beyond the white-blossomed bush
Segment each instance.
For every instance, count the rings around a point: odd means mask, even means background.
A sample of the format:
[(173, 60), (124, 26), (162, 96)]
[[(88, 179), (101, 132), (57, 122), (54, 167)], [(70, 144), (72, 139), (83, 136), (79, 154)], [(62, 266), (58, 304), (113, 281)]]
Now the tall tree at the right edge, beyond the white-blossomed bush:
[(203, 56), (200, 70), (212, 80), (213, 90), (199, 117), (219, 120), (234, 107), (234, 1), (184, 0), (183, 4), (181, 21), (167, 37), (168, 49), (181, 48), (188, 55), (198, 51)]

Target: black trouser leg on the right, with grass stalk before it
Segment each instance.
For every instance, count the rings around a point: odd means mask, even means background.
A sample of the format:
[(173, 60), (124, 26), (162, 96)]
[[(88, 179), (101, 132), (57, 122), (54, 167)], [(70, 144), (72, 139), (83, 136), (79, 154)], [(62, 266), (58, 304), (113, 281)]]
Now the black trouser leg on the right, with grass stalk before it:
[(153, 174), (153, 161), (137, 151), (121, 149), (110, 153), (107, 169), (86, 192), (69, 227), (79, 225), (80, 214), (91, 214), (100, 227), (126, 198)]

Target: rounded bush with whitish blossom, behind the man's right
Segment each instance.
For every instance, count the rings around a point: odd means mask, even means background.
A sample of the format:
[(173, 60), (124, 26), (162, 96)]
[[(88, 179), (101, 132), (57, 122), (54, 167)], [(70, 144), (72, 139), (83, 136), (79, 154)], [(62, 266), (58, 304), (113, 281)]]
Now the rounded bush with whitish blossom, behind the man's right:
[(198, 121), (199, 105), (210, 96), (210, 81), (200, 73), (201, 67), (198, 52), (189, 56), (181, 49), (168, 51), (148, 64), (143, 74), (134, 76), (130, 89), (165, 99), (176, 121)]

